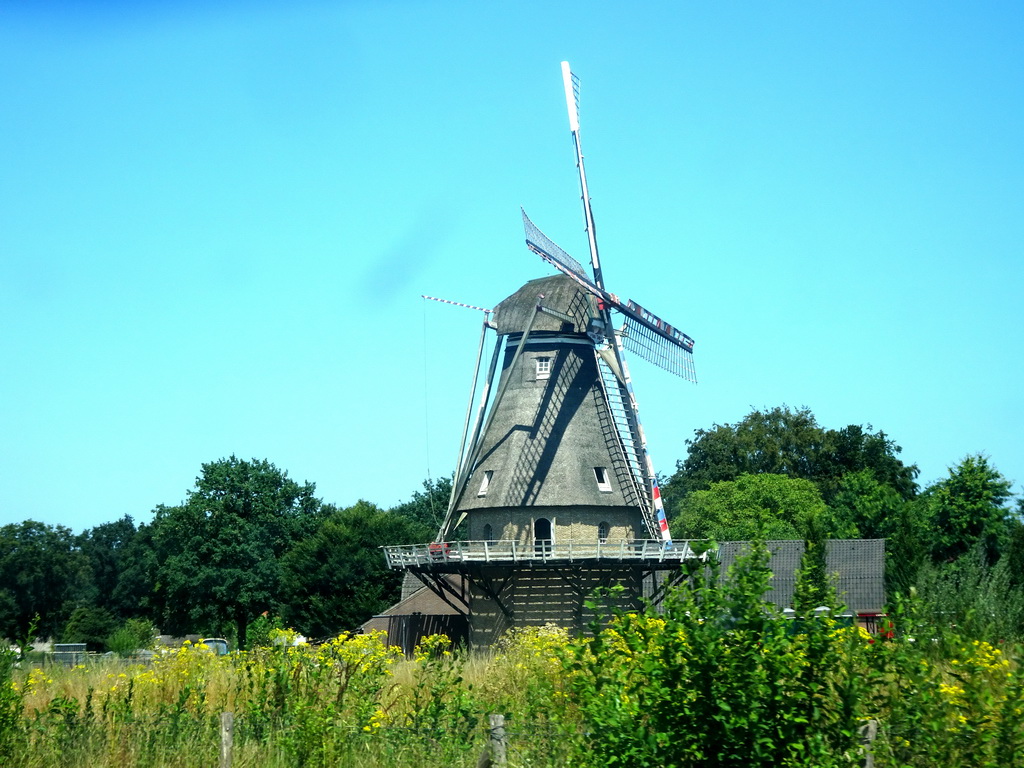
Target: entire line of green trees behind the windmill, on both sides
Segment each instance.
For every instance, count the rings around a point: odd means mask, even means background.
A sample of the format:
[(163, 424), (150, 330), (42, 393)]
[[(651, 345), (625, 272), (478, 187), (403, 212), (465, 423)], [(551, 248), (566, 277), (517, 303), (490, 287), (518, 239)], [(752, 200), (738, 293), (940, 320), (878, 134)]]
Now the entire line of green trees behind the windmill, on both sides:
[[(1024, 500), (980, 455), (921, 487), (918, 467), (870, 426), (828, 429), (806, 408), (755, 410), (698, 429), (660, 478), (675, 539), (886, 539), (890, 595), (910, 589), (986, 631), (1024, 631)], [(0, 636), (113, 647), (126, 626), (229, 636), (275, 625), (352, 630), (398, 597), (380, 547), (429, 541), (451, 480), (391, 509), (339, 508), (266, 460), (202, 465), (177, 506), (81, 534), (0, 527)]]

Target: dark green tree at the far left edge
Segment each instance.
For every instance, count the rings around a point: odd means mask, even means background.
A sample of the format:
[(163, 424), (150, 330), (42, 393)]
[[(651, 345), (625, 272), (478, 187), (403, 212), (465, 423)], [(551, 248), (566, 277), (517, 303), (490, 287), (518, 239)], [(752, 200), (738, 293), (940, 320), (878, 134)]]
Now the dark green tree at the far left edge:
[(20, 638), (39, 616), (56, 635), (88, 583), (71, 529), (26, 520), (0, 527), (0, 636)]

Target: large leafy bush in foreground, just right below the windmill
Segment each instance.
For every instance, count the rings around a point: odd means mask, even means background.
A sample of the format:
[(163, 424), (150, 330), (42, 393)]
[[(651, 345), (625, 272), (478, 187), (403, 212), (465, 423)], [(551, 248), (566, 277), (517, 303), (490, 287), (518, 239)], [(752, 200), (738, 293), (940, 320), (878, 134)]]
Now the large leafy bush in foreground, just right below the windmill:
[[(857, 641), (813, 611), (799, 625), (763, 602), (768, 553), (755, 547), (721, 584), (689, 566), (664, 613), (621, 614), (570, 647), (583, 714), (581, 755), (595, 766), (830, 766), (854, 759)], [(589, 750), (583, 749), (586, 742)]]

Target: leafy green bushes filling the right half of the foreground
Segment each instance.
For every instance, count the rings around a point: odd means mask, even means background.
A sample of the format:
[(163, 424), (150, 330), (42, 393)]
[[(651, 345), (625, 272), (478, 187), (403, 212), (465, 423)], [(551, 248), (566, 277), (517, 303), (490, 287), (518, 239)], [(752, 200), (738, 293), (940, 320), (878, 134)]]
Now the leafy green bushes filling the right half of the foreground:
[(810, 605), (785, 620), (761, 597), (767, 563), (755, 547), (724, 581), (691, 564), (664, 612), (615, 615), (568, 645), (574, 764), (856, 765), (874, 721), (879, 768), (1024, 765), (1019, 647), (937, 622), (916, 596), (893, 609), (895, 636)]

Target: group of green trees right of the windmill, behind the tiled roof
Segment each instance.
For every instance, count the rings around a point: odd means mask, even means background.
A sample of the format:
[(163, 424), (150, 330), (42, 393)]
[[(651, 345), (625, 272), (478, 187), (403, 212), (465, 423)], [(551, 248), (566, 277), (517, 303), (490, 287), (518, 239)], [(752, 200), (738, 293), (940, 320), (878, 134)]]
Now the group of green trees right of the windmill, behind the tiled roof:
[(809, 409), (755, 410), (698, 429), (663, 481), (678, 539), (885, 539), (890, 599), (980, 637), (1024, 637), (1024, 498), (984, 455), (922, 487), (871, 426), (829, 429)]

